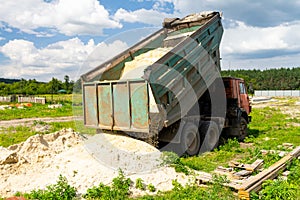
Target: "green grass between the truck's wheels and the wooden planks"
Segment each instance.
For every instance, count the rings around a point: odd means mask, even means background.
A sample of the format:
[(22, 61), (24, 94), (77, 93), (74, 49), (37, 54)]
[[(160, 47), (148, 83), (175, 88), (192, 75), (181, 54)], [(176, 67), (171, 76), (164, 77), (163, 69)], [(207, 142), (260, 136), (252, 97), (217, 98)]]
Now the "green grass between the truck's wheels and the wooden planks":
[(253, 121), (249, 126), (249, 137), (245, 139), (245, 142), (253, 143), (251, 148), (242, 149), (236, 140), (229, 140), (215, 151), (181, 158), (181, 162), (192, 169), (211, 172), (217, 166), (226, 166), (233, 159), (252, 163), (261, 158), (268, 167), (280, 157), (276, 154), (262, 155), (260, 150), (282, 150), (283, 143), (300, 145), (300, 127), (289, 126), (291, 119), (280, 110), (270, 107), (253, 109), (251, 115)]

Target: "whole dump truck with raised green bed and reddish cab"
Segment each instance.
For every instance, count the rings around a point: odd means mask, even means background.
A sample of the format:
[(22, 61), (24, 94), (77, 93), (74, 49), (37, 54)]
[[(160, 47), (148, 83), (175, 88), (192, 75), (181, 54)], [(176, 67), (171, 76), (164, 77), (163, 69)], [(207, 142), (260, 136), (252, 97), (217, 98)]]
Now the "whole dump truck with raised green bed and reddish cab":
[(220, 76), (219, 12), (163, 27), (81, 76), (84, 124), (196, 155), (221, 134), (243, 140), (251, 106), (243, 79)]

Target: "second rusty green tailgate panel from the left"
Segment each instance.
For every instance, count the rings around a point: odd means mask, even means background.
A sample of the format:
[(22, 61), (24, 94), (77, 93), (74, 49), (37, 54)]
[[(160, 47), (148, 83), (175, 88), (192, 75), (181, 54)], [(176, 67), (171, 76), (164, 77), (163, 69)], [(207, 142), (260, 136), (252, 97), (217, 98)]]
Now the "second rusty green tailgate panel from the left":
[(99, 84), (98, 88), (98, 109), (99, 125), (113, 126), (113, 108), (112, 108), (112, 88), (111, 84)]

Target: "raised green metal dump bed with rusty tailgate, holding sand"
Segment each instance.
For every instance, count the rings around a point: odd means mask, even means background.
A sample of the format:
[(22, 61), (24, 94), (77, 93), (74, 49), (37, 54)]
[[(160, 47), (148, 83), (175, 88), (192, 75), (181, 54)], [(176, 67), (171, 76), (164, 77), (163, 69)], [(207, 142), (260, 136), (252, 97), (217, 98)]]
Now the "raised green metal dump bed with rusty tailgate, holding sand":
[(222, 33), (218, 12), (165, 19), (162, 29), (82, 75), (85, 125), (147, 138), (180, 120), (191, 97), (217, 78)]

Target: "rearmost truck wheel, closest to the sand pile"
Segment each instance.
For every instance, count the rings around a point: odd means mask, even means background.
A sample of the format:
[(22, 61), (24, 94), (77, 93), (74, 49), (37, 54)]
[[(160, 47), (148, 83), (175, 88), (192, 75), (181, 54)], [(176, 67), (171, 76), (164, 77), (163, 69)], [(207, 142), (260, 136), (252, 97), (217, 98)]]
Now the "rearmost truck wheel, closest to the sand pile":
[(180, 141), (184, 153), (189, 156), (197, 155), (201, 146), (198, 127), (191, 122), (186, 123), (181, 133)]

